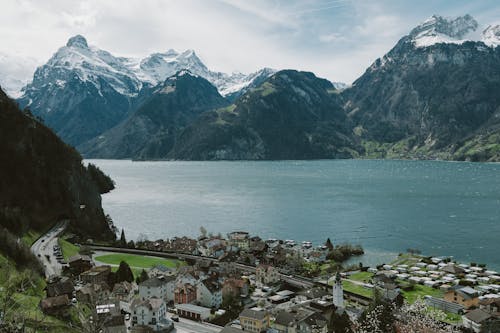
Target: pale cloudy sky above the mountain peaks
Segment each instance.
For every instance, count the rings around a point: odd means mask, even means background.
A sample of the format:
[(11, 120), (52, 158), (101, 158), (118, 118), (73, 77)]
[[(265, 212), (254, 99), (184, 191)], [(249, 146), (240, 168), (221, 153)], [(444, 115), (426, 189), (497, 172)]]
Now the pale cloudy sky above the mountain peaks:
[(194, 49), (215, 71), (293, 68), (349, 84), (433, 14), (500, 22), (497, 0), (0, 0), (0, 8), (0, 80), (11, 85), (76, 34), (117, 56)]

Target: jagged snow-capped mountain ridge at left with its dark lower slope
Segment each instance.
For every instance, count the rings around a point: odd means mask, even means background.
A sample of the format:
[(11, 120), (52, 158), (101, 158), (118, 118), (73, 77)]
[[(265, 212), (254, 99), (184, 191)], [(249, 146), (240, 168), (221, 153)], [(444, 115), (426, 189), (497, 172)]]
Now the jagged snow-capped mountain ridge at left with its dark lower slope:
[(77, 35), (36, 70), (18, 101), (65, 142), (77, 146), (117, 125), (141, 103), (139, 97), (183, 69), (206, 78), (229, 97), (239, 96), (274, 72), (213, 72), (192, 50), (169, 50), (144, 59), (116, 57)]

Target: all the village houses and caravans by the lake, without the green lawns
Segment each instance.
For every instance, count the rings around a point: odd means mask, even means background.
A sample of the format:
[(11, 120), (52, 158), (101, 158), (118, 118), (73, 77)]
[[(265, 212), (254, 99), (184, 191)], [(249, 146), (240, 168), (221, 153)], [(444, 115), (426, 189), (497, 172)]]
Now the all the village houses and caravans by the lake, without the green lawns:
[[(340, 274), (330, 283), (291, 283), (287, 277), (294, 273), (295, 258), (326, 260), (328, 248), (310, 242), (264, 241), (240, 231), (227, 239), (184, 237), (145, 241), (141, 247), (208, 258), (176, 268), (157, 265), (138, 284), (112, 284), (110, 266), (96, 266), (90, 256), (77, 255), (69, 259), (64, 277), (49, 279), (42, 310), (61, 315), (75, 304), (90, 305), (104, 333), (169, 332), (179, 317), (219, 325), (223, 333), (327, 333), (334, 313), (356, 317), (370, 301), (344, 291)], [(373, 273), (370, 283), (359, 283), (390, 301), (402, 302), (402, 291), (418, 284), (442, 290), (442, 298), (426, 296), (427, 305), (461, 314), (463, 326), (476, 332), (500, 318), (500, 276), (486, 268), (430, 258), (368, 271)], [(349, 279), (349, 273), (343, 277)]]

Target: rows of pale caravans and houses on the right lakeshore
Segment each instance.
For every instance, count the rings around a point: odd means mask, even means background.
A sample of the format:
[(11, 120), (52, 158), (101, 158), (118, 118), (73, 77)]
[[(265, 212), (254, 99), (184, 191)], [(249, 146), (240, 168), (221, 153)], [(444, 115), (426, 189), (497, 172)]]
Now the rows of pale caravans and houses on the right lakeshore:
[[(499, 325), (500, 274), (477, 265), (452, 263), (433, 257), (411, 265), (382, 265), (369, 268), (373, 283), (364, 287), (386, 285), (388, 289), (412, 289), (420, 284), (441, 290), (442, 297), (425, 296), (427, 306), (462, 315), (462, 325), (480, 332), (482, 326)], [(500, 331), (500, 325), (496, 326)]]

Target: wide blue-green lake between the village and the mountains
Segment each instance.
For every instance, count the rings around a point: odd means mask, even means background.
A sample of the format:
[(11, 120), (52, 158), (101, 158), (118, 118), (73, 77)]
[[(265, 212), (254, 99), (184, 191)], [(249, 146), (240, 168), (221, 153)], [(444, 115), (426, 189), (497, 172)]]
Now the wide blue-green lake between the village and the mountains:
[(129, 239), (246, 230), (361, 244), (355, 261), (416, 248), (500, 269), (500, 164), (322, 160), (91, 160), (116, 182), (103, 206)]

